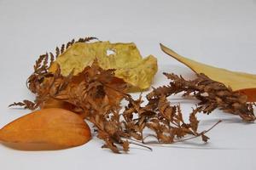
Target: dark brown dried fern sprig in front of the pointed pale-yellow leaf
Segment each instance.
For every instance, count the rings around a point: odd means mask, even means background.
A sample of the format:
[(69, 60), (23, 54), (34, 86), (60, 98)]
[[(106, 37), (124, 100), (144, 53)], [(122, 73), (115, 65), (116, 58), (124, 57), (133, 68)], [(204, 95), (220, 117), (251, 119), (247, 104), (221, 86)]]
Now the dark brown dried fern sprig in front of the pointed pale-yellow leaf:
[(183, 77), (175, 74), (164, 73), (171, 79), (169, 86), (155, 88), (148, 94), (148, 99), (157, 98), (159, 95), (166, 97), (172, 94), (183, 93), (183, 97), (192, 96), (199, 99), (198, 104), (203, 113), (210, 114), (215, 109), (241, 116), (245, 122), (253, 122), (253, 103), (247, 103), (247, 96), (239, 92), (232, 91), (224, 83), (212, 81), (204, 74), (198, 74), (197, 78), (187, 81)]

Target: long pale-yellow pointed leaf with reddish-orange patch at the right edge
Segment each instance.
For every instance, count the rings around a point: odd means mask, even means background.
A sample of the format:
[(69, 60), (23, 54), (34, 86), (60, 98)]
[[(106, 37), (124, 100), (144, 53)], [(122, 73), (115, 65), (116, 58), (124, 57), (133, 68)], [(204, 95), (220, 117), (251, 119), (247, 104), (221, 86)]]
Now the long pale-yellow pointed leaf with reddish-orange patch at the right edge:
[(166, 54), (177, 59), (184, 65), (187, 65), (192, 71), (195, 71), (195, 73), (203, 73), (214, 81), (223, 82), (224, 85), (232, 88), (233, 91), (246, 94), (248, 102), (256, 101), (256, 75), (244, 72), (228, 71), (211, 65), (205, 65), (195, 60), (185, 58), (163, 44), (160, 44), (160, 48)]

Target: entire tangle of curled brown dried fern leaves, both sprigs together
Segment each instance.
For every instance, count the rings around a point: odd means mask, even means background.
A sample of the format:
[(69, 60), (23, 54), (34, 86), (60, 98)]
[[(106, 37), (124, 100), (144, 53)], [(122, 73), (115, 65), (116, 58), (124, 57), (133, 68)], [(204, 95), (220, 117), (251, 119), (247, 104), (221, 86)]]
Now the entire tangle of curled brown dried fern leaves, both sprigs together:
[[(79, 40), (87, 42), (94, 37)], [(169, 86), (155, 88), (147, 95), (146, 104), (142, 96), (132, 99), (126, 94), (126, 83), (114, 77), (113, 70), (102, 70), (97, 65), (88, 66), (73, 76), (61, 76), (60, 67), (55, 72), (49, 72), (49, 66), (59, 54), (72, 45), (74, 41), (62, 45), (61, 50), (56, 48), (53, 54), (44, 54), (34, 65), (34, 73), (28, 78), (27, 85), (35, 101), (24, 100), (13, 105), (24, 106), (35, 110), (45, 108), (54, 102), (55, 107), (67, 107), (84, 119), (93, 123), (97, 137), (105, 144), (103, 147), (115, 153), (128, 151), (129, 144), (147, 144), (148, 137), (155, 138), (154, 142), (171, 144), (186, 139), (201, 137), (207, 142), (206, 133), (209, 130), (198, 132), (199, 121), (197, 113), (210, 113), (219, 108), (241, 116), (247, 122), (255, 120), (253, 105), (247, 104), (246, 97), (232, 92), (224, 84), (215, 82), (204, 75), (198, 75), (193, 81), (186, 81), (183, 77), (166, 74), (172, 82)], [(50, 57), (50, 59), (49, 59)], [(184, 122), (179, 105), (172, 105), (167, 97), (183, 92), (183, 96), (192, 95), (201, 103), (190, 113), (189, 122)], [(128, 105), (122, 109), (122, 99)], [(12, 106), (12, 105), (11, 105)], [(215, 126), (215, 125), (213, 125)], [(189, 136), (188, 138), (184, 138)], [(139, 142), (139, 143), (138, 143)], [(152, 142), (152, 141), (151, 141)]]

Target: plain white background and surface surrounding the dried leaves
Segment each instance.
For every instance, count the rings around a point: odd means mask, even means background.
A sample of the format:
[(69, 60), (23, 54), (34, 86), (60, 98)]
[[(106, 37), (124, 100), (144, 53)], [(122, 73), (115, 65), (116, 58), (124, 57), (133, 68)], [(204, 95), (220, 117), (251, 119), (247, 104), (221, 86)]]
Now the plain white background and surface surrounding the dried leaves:
[[(159, 42), (209, 65), (256, 74), (255, 0), (166, 1), (11, 1), (0, 0), (0, 127), (28, 111), (7, 105), (32, 99), (26, 77), (39, 54), (74, 38), (94, 36), (111, 42), (135, 42), (143, 56), (154, 54), (162, 71), (192, 76), (184, 65), (160, 51)], [(178, 101), (178, 100), (177, 100)], [(174, 103), (177, 101), (173, 101)], [(182, 101), (189, 115), (191, 101)], [(192, 102), (193, 103), (193, 102)], [(255, 169), (255, 124), (214, 111), (201, 116), (201, 128), (223, 119), (208, 136), (183, 144), (131, 148), (116, 155), (92, 139), (57, 151), (19, 151), (0, 145), (0, 168), (46, 169)]]

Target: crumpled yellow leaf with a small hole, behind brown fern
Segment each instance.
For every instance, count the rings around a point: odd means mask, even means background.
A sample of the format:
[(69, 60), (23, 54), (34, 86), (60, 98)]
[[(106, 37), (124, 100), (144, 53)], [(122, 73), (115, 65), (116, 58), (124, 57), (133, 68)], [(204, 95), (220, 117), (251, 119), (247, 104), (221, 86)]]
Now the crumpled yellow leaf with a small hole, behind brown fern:
[[(112, 54), (108, 54), (108, 53)], [(61, 75), (67, 76), (73, 71), (74, 76), (84, 71), (94, 60), (104, 69), (114, 69), (115, 77), (128, 82), (130, 91), (142, 91), (150, 87), (157, 71), (157, 59), (149, 55), (142, 58), (134, 43), (76, 42), (60, 54), (56, 61), (61, 66)], [(49, 71), (55, 71), (52, 65)]]

